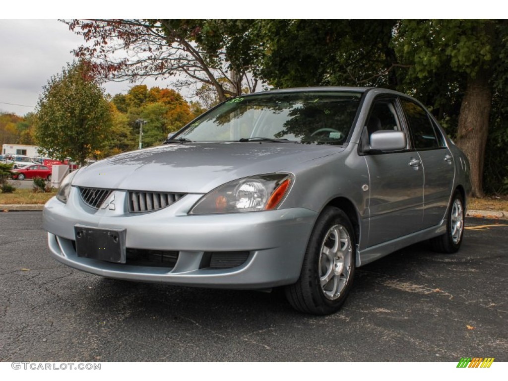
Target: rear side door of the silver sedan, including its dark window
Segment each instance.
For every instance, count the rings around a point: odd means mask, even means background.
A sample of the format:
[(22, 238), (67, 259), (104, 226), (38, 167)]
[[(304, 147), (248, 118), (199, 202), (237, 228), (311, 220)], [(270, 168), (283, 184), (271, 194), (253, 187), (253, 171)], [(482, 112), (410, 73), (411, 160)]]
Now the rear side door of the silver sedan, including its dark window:
[(446, 213), (453, 190), (455, 164), (452, 153), (433, 118), (418, 103), (401, 98), (415, 150), (425, 176), (423, 226), (438, 225)]

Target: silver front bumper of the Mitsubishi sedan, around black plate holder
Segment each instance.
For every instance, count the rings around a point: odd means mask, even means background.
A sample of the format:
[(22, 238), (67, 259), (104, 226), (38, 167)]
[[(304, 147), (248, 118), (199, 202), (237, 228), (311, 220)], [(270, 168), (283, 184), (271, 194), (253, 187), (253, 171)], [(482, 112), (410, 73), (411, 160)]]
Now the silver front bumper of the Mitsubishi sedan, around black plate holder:
[[(48, 231), (53, 258), (78, 270), (109, 278), (229, 289), (264, 289), (298, 279), (316, 212), (292, 208), (187, 215), (201, 196), (186, 195), (154, 212), (124, 213), (89, 208), (73, 187), (67, 204), (55, 198), (47, 202), (43, 228)], [(76, 224), (125, 229), (127, 248), (174, 250), (178, 259), (173, 267), (166, 268), (78, 257), (73, 244)], [(247, 251), (248, 258), (234, 268), (200, 268), (206, 253), (230, 251)]]

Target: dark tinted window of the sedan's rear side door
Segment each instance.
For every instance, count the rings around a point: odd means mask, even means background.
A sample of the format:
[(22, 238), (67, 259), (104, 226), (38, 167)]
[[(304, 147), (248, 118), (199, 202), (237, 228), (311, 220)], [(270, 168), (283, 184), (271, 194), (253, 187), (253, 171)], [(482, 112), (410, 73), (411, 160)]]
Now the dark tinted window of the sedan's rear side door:
[(425, 110), (415, 102), (401, 100), (416, 149), (439, 148), (440, 144)]

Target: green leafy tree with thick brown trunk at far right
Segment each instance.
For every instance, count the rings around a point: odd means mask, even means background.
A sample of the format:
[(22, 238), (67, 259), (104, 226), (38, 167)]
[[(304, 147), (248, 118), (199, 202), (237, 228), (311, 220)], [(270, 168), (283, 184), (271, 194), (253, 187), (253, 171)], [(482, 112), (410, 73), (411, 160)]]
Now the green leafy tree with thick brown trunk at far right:
[[(469, 159), (475, 197), (484, 196), (493, 84), (507, 35), (505, 20), (402, 20), (396, 39), (400, 58), (411, 63), (409, 80), (436, 81), (437, 77), (449, 87), (448, 91), (459, 91), (456, 143)], [(453, 86), (454, 82), (459, 86)]]

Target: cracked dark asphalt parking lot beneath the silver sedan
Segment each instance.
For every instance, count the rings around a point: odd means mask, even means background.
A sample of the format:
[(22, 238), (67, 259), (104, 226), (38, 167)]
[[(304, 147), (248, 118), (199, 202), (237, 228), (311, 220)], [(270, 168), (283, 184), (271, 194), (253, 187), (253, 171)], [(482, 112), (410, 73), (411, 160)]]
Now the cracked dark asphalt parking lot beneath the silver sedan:
[(49, 257), (41, 212), (0, 213), (0, 360), (508, 361), (508, 222), (466, 223), (455, 255), (399, 250), (358, 269), (338, 313), (311, 316), (279, 293), (73, 270)]

